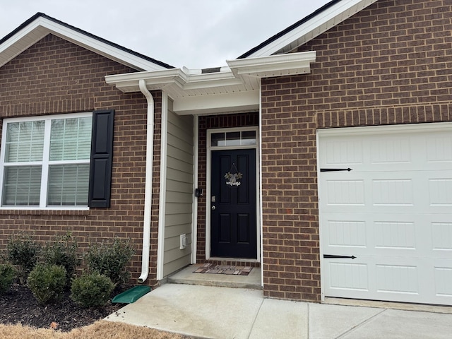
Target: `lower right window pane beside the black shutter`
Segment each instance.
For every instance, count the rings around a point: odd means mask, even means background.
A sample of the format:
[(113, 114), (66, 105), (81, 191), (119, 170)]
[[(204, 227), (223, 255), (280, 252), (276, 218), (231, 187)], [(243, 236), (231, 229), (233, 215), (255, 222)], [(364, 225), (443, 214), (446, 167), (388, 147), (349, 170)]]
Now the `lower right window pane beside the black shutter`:
[(48, 206), (88, 206), (90, 165), (49, 166)]

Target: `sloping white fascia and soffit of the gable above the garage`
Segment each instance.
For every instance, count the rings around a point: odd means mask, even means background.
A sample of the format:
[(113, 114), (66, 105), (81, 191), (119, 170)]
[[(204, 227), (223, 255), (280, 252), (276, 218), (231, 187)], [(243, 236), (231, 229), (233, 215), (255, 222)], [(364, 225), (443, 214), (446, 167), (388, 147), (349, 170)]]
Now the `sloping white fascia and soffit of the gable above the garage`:
[[(326, 32), (330, 28), (338, 25), (338, 23), (343, 22), (350, 16), (361, 11), (362, 9), (374, 4), (377, 0), (343, 0), (334, 4), (331, 8), (326, 11), (319, 13), (319, 15), (314, 16), (306, 23), (299, 25), (285, 35), (279, 37), (275, 41), (267, 44), (266, 46), (258, 49), (253, 54), (249, 55), (249, 58), (264, 57), (272, 55), (278, 52), (289, 52), (285, 50), (285, 47), (290, 46), (290, 50), (296, 48), (293, 46), (292, 42), (297, 40), (302, 40), (302, 43), (306, 43), (314, 37)], [(350, 11), (350, 9), (355, 7), (355, 11)], [(347, 13), (347, 15), (345, 15)], [(306, 39), (302, 39), (306, 37)], [(297, 44), (299, 45), (299, 44)]]

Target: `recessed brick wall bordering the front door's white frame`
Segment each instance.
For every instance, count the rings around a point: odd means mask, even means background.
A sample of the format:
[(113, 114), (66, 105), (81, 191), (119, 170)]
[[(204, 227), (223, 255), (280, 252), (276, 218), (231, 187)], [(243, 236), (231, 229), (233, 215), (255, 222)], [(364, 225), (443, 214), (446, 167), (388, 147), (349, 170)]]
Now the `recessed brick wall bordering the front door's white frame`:
[[(198, 128), (198, 188), (206, 192), (206, 160), (207, 160), (207, 130), (225, 129), (232, 127), (258, 126), (258, 113), (226, 114), (199, 117)], [(206, 202), (208, 196), (198, 198), (198, 233), (196, 262), (206, 262)], [(222, 263), (224, 265), (239, 265), (234, 261), (209, 261), (210, 263)], [(253, 263), (249, 263), (250, 265)], [(256, 265), (256, 263), (254, 263)]]

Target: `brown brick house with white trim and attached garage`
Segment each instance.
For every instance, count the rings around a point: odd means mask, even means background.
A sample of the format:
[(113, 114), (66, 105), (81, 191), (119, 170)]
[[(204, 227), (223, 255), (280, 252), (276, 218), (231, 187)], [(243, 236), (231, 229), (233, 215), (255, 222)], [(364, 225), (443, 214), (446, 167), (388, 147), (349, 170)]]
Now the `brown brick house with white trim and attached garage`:
[(451, 56), (446, 0), (333, 0), (204, 71), (38, 13), (0, 40), (0, 246), (130, 237), (149, 285), (247, 263), (267, 297), (451, 305)]

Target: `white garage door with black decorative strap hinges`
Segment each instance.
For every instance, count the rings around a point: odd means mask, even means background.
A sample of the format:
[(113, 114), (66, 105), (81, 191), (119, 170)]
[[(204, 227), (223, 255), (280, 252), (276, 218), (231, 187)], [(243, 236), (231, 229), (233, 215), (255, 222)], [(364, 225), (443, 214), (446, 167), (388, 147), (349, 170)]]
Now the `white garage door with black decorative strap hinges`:
[(452, 123), (319, 131), (318, 165), (324, 295), (452, 305)]

